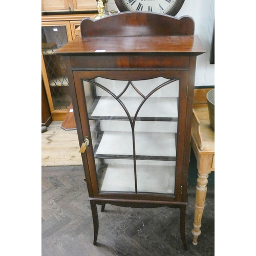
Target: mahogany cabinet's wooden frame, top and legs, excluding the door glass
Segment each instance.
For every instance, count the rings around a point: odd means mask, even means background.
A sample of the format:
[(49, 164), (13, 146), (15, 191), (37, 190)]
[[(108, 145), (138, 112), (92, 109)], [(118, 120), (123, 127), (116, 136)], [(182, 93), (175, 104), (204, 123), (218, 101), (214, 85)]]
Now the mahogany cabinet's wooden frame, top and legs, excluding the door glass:
[[(98, 20), (85, 18), (81, 22), (81, 37), (55, 51), (65, 57), (79, 144), (88, 143), (81, 157), (92, 209), (94, 244), (97, 243), (99, 229), (96, 205), (101, 205), (102, 211), (105, 204), (123, 207), (167, 206), (180, 209), (181, 240), (187, 249), (185, 210), (188, 205), (187, 174), (196, 57), (204, 52), (199, 37), (194, 35), (194, 20), (191, 17), (175, 18), (145, 12), (123, 12)], [(134, 191), (115, 191), (115, 187), (113, 191), (100, 190), (97, 155), (90, 127), (91, 111), (88, 109), (88, 95), (84, 92), (84, 80), (95, 83), (97, 77), (130, 82), (158, 77), (179, 81), (175, 186), (172, 193), (139, 191), (136, 187), (136, 170)], [(117, 158), (125, 161), (127, 156)], [(134, 151), (129, 158), (136, 163), (138, 156)], [(156, 166), (153, 173), (157, 169)]]

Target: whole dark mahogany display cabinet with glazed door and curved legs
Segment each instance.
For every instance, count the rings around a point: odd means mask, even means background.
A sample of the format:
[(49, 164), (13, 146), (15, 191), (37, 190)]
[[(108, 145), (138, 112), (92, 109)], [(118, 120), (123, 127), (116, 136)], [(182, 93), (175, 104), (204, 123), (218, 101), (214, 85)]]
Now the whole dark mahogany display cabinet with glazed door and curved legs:
[(91, 203), (180, 209), (184, 248), (196, 58), (191, 17), (123, 12), (81, 22), (65, 57)]

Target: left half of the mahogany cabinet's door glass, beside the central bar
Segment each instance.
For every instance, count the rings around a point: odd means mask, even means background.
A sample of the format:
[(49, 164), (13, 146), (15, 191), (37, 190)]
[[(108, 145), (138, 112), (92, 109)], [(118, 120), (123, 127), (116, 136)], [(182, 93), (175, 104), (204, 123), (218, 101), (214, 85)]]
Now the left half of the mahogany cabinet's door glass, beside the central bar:
[(135, 193), (131, 124), (122, 105), (113, 97), (124, 90), (127, 82), (118, 82), (85, 80), (84, 96), (100, 191)]

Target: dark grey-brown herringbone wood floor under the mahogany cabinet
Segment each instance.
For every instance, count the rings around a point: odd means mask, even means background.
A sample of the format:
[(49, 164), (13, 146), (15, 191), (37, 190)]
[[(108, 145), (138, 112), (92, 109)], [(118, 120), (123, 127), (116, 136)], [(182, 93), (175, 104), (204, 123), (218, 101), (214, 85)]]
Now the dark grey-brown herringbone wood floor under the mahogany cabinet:
[[(179, 232), (179, 209), (134, 209), (107, 204), (99, 214), (98, 244), (82, 166), (42, 167), (42, 255), (168, 256), (214, 255), (214, 186), (208, 186), (202, 234), (193, 245), (195, 186), (188, 186), (186, 239)], [(99, 206), (98, 206), (99, 207)]]

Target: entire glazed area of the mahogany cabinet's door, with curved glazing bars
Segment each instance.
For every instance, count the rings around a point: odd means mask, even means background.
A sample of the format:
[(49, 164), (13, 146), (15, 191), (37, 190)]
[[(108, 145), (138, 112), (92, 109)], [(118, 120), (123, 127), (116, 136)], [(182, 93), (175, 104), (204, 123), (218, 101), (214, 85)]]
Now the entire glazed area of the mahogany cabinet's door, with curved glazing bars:
[(174, 194), (179, 81), (83, 81), (101, 193)]

